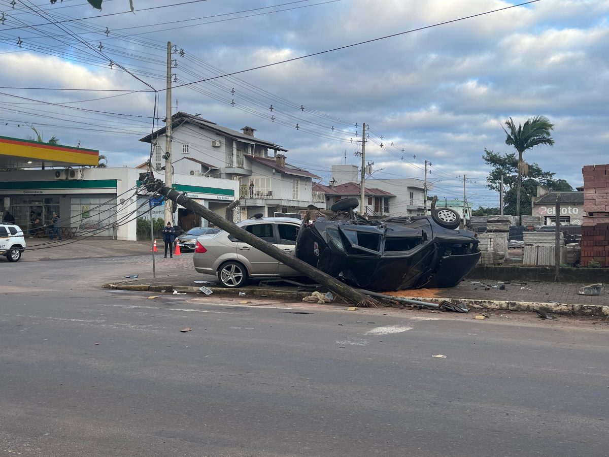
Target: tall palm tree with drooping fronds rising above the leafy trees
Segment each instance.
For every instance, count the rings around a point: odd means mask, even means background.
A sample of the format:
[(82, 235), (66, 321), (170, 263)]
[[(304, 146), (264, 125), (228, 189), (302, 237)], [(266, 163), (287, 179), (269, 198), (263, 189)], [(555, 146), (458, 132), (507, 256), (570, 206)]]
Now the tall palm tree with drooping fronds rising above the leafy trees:
[(540, 144), (554, 145), (554, 139), (550, 136), (550, 131), (554, 130), (554, 124), (546, 116), (535, 116), (527, 119), (524, 125), (516, 124), (512, 118), (504, 122), (505, 127), (501, 126), (505, 135), (505, 144), (513, 146), (518, 151), (518, 185), (516, 187), (516, 216), (520, 216), (520, 188), (523, 182), (523, 175), (529, 172), (529, 166), (523, 160), (524, 151)]

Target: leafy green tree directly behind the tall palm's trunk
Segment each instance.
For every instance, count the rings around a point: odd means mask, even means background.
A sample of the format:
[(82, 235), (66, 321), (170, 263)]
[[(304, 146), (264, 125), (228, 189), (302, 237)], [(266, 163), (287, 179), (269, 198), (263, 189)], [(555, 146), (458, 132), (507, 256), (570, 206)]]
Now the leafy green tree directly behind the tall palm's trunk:
[[(507, 188), (504, 195), (504, 214), (515, 214), (518, 204), (518, 158), (516, 153), (500, 154), (485, 148), (482, 159), (491, 167), (487, 177), (487, 187), (499, 192), (501, 175), (503, 175), (504, 186)], [(543, 171), (537, 163), (528, 164), (528, 168), (526, 177), (521, 180), (521, 214), (530, 214), (531, 197), (537, 195), (537, 186), (543, 186), (552, 192), (573, 190), (566, 180), (554, 179), (555, 173)]]

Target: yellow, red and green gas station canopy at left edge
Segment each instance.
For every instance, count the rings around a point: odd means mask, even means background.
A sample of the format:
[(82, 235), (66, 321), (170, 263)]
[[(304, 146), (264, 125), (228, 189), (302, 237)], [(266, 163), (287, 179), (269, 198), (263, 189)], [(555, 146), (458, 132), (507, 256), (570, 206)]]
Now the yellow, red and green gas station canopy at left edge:
[(99, 151), (0, 136), (0, 168), (97, 166)]

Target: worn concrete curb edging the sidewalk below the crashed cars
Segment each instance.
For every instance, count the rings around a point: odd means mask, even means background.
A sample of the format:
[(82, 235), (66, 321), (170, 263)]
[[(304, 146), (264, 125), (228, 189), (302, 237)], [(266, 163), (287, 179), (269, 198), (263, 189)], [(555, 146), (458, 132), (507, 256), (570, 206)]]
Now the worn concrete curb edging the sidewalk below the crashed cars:
[[(174, 286), (174, 285), (141, 285), (141, 284), (106, 284), (102, 286), (106, 289), (118, 289), (125, 291), (150, 291), (150, 292), (190, 292), (199, 293), (197, 286)], [(304, 297), (311, 295), (311, 291), (286, 291), (269, 289), (266, 287), (247, 287), (239, 289), (227, 289), (223, 287), (211, 287), (213, 295), (239, 297), (238, 292), (245, 292), (244, 298), (269, 298), (276, 300), (292, 300), (300, 302)], [(211, 297), (211, 296), (210, 296)], [(471, 300), (471, 299), (449, 299), (449, 298), (429, 298), (429, 297), (402, 297), (421, 302), (442, 303), (461, 302), (467, 305), (470, 310), (505, 310), (505, 311), (526, 311), (532, 312), (543, 309), (548, 313), (570, 314), (572, 316), (609, 316), (609, 306), (604, 305), (571, 305), (568, 303), (543, 303), (543, 302), (512, 302), (505, 300)], [(407, 305), (406, 305), (407, 306)]]

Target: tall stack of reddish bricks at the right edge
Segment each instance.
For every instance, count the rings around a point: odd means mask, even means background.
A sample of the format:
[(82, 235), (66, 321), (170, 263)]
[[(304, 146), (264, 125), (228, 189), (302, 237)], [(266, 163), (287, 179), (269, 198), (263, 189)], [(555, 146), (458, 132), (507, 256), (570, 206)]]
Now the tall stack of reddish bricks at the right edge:
[(609, 266), (609, 165), (586, 165), (582, 172), (582, 266)]

